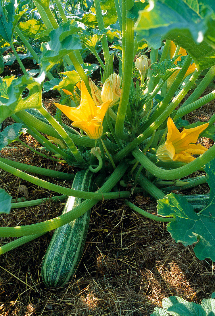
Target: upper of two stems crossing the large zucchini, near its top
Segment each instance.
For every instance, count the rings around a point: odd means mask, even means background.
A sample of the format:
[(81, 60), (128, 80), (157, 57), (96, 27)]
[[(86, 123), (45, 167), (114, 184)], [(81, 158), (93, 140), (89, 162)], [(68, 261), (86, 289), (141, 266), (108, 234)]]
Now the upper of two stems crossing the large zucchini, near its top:
[[(81, 198), (88, 198), (88, 199), (112, 199), (112, 198), (123, 198), (123, 197), (129, 197), (130, 192), (128, 191), (122, 191), (122, 192), (111, 192), (111, 193), (103, 193), (101, 190), (99, 192), (93, 193), (93, 192), (87, 192), (87, 191), (78, 191), (73, 190), (69, 188), (62, 187), (60, 185), (53, 184), (51, 182), (36, 178), (30, 174), (27, 174), (23, 171), (20, 171), (14, 167), (11, 167), (4, 162), (0, 161), (0, 168), (3, 170), (23, 179), (26, 181), (29, 181), (31, 183), (34, 183), (35, 185), (39, 185), (42, 188), (52, 190), (54, 192), (58, 192), (60, 194), (65, 194), (68, 196), (74, 196), (74, 197), (81, 197)], [(116, 169), (115, 169), (116, 170)]]

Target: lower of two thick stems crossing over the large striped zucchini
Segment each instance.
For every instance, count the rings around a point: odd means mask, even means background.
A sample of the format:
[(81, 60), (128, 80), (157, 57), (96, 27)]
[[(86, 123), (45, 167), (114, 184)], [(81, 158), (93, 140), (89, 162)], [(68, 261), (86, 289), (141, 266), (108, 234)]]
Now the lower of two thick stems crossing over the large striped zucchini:
[[(125, 162), (121, 162), (119, 166), (114, 170), (114, 172), (110, 175), (110, 177), (105, 182), (105, 184), (101, 186), (99, 191), (109, 192), (114, 187), (114, 185), (116, 185), (117, 182), (121, 179), (123, 174), (126, 172), (126, 169), (127, 169), (127, 164)], [(71, 191), (75, 191), (75, 190), (71, 190)], [(103, 199), (102, 194), (100, 195), (100, 199)], [(26, 225), (26, 226), (18, 226), (18, 227), (0, 227), (0, 237), (20, 237), (20, 236), (26, 236), (26, 235), (33, 235), (35, 234), (35, 232), (38, 232), (38, 231), (40, 233), (43, 233), (43, 232), (47, 232), (49, 230), (55, 229), (81, 216), (87, 210), (93, 207), (100, 199), (98, 198), (97, 200), (94, 200), (94, 201), (87, 199), (83, 201), (80, 205), (72, 209), (71, 211), (42, 223)]]

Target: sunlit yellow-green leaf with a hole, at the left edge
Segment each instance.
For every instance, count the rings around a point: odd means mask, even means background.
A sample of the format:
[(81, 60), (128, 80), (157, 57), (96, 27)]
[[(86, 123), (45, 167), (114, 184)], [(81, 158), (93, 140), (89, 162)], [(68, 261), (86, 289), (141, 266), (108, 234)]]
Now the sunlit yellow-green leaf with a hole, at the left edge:
[[(38, 78), (22, 76), (13, 80), (8, 88), (8, 99), (0, 99), (0, 123), (11, 114), (29, 108), (42, 106), (42, 82), (45, 74)], [(22, 98), (22, 93), (28, 89), (28, 96)]]

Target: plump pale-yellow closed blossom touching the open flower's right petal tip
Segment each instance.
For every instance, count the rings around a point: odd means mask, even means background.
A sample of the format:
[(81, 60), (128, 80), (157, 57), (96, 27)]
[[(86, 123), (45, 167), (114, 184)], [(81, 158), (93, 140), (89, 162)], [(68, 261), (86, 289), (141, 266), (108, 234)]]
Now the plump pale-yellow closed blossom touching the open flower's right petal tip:
[(113, 99), (113, 104), (115, 104), (121, 95), (121, 77), (117, 75), (115, 72), (111, 74), (103, 84), (101, 90), (101, 100), (102, 102), (106, 102), (107, 100)]

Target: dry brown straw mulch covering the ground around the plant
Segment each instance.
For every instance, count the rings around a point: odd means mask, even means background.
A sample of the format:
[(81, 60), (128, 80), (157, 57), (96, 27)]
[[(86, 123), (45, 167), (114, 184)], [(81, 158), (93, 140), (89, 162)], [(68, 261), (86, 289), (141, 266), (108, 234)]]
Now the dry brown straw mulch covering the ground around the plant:
[[(48, 104), (48, 101), (46, 102)], [(211, 117), (214, 103), (187, 116), (191, 123)], [(5, 124), (10, 124), (7, 120)], [(25, 133), (22, 140), (38, 147)], [(209, 139), (201, 139), (210, 147)], [(64, 164), (34, 155), (18, 143), (17, 149), (1, 151), (2, 157), (35, 166), (75, 173)], [(53, 183), (69, 183), (39, 176)], [(0, 171), (0, 186), (14, 198), (49, 197), (54, 193)], [(20, 190), (21, 189), (23, 190)], [(193, 193), (208, 192), (204, 184)], [(191, 192), (187, 192), (191, 193)], [(57, 195), (57, 194), (56, 194)], [(133, 196), (133, 203), (157, 214), (156, 201), (148, 196)], [(61, 214), (62, 203), (41, 204), (11, 210), (1, 216), (1, 225), (28, 225)], [(200, 302), (215, 288), (214, 264), (200, 261), (193, 246), (176, 244), (166, 231), (166, 224), (154, 222), (130, 210), (122, 200), (98, 203), (92, 210), (83, 258), (75, 276), (63, 288), (47, 289), (40, 276), (42, 258), (53, 231), (0, 257), (1, 316), (149, 316), (162, 299), (179, 295)], [(0, 244), (12, 239), (0, 239)]]

